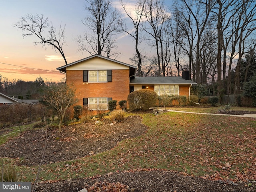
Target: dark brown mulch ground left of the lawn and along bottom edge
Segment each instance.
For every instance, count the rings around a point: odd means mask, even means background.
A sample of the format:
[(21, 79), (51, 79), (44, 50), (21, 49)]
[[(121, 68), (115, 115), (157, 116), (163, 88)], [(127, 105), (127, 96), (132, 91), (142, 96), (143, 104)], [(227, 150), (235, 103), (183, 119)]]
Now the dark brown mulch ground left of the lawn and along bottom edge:
[[(123, 122), (110, 126), (108, 120), (100, 127), (94, 122), (76, 124), (58, 130), (50, 130), (44, 163), (82, 158), (110, 150), (118, 142), (146, 133), (148, 127), (141, 123), (140, 116), (129, 116)], [(1, 130), (0, 130), (1, 131)], [(4, 132), (2, 130), (2, 132)], [(6, 133), (6, 131), (5, 131)], [(18, 138), (0, 146), (0, 157), (20, 158), (19, 164), (38, 165), (41, 160), (41, 147), (44, 145), (44, 132), (34, 129), (21, 134)], [(37, 192), (78, 192), (93, 184), (103, 186), (115, 183), (128, 186), (129, 192), (249, 192), (256, 191), (256, 184), (248, 187), (246, 183), (210, 181), (202, 178), (182, 176), (164, 170), (133, 170), (114, 172), (95, 178), (62, 180), (38, 185)], [(91, 190), (93, 191), (93, 190)], [(102, 190), (103, 191), (103, 190)], [(111, 191), (111, 190), (110, 190)], [(112, 190), (116, 191), (116, 190)], [(125, 190), (123, 190), (125, 191)]]

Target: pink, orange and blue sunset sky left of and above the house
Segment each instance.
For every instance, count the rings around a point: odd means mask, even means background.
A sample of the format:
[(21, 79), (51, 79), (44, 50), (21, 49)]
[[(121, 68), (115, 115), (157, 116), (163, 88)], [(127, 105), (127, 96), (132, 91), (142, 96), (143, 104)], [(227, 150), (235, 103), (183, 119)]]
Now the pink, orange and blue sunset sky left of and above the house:
[[(132, 1), (130, 1), (132, 2)], [(133, 1), (134, 2), (134, 1)], [(61, 80), (65, 75), (56, 68), (63, 66), (64, 60), (52, 47), (34, 46), (35, 36), (22, 37), (22, 30), (14, 24), (26, 14), (44, 14), (57, 29), (65, 25), (65, 45), (62, 47), (68, 63), (90, 56), (78, 52), (74, 39), (86, 30), (81, 20), (86, 16), (84, 0), (0, 0), (0, 75), (24, 81), (34, 81), (39, 76), (44, 80)], [(113, 5), (121, 9), (118, 1)], [(134, 42), (123, 34), (117, 45), (122, 53), (117, 60), (132, 64), (129, 60), (134, 54)]]

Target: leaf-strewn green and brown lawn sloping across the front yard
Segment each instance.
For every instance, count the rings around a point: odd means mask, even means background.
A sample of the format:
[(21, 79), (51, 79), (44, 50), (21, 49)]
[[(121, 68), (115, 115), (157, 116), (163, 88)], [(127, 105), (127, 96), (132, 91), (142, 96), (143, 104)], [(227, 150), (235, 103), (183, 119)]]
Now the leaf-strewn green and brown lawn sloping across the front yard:
[[(146, 134), (112, 150), (42, 166), (42, 181), (137, 169), (167, 169), (208, 179), (256, 178), (256, 121), (252, 118), (168, 112), (144, 114)], [(38, 167), (17, 166), (23, 181)]]

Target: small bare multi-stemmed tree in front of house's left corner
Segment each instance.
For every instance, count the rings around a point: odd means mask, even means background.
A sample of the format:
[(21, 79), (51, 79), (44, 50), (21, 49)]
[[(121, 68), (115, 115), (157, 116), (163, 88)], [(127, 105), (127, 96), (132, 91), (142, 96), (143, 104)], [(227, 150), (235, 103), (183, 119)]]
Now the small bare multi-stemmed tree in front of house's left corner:
[(61, 132), (61, 125), (67, 109), (78, 102), (75, 97), (75, 88), (71, 85), (66, 85), (65, 82), (48, 82), (43, 99), (58, 113), (60, 119), (59, 132)]

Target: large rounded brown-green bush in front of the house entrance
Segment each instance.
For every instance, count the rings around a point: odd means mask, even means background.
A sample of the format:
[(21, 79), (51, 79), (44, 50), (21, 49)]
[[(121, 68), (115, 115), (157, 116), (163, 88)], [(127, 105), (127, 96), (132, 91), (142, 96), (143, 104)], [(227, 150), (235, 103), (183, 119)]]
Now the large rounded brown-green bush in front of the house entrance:
[(150, 107), (156, 106), (157, 94), (153, 90), (140, 89), (131, 92), (128, 95), (129, 108), (131, 110), (143, 110), (146, 111)]

